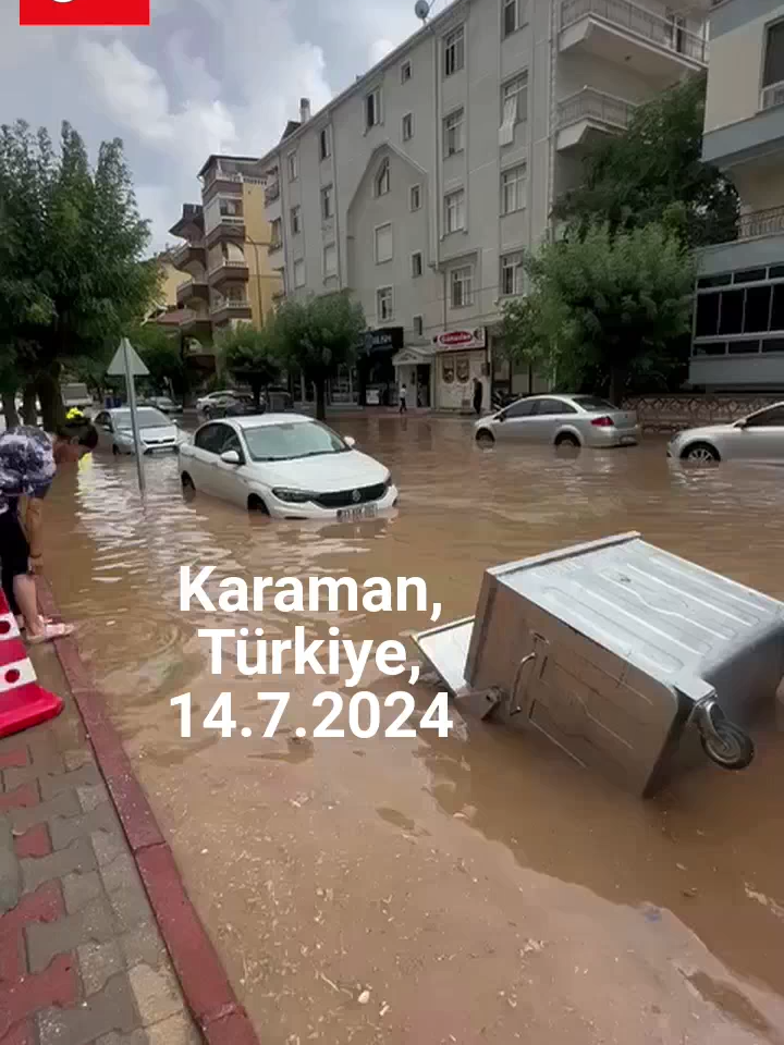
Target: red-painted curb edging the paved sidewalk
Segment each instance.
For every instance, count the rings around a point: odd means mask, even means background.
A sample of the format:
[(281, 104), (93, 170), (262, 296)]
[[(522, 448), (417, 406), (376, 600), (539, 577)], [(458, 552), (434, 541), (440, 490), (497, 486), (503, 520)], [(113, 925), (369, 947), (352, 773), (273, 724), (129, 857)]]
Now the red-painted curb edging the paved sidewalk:
[[(59, 615), (47, 581), (38, 581), (41, 610)], [(164, 839), (120, 736), (82, 660), (76, 640), (53, 642), (74, 702), (87, 730), (100, 773), (122, 823), (183, 997), (207, 1045), (260, 1045), (220, 958), (185, 890), (174, 855)]]

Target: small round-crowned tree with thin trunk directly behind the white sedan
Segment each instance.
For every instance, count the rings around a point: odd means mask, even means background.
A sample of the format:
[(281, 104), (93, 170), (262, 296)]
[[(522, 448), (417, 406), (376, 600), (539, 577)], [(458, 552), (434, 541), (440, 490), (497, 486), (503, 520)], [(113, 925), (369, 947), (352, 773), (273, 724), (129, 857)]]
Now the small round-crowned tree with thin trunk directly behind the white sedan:
[(339, 291), (306, 302), (285, 302), (272, 325), (278, 355), (289, 370), (301, 370), (316, 386), (316, 417), (327, 416), (327, 382), (351, 366), (366, 330), (358, 302)]

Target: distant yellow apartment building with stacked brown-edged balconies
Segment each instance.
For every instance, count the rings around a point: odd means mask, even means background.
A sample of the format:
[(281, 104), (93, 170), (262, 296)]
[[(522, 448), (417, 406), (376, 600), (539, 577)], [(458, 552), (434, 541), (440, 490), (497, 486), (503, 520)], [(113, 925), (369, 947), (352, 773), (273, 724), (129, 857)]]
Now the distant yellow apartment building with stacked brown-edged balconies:
[(170, 229), (184, 241), (171, 251), (171, 262), (185, 274), (176, 287), (179, 328), (195, 355), (213, 357), (216, 334), (237, 323), (264, 323), (281, 278), (270, 263), (258, 158), (210, 156), (199, 179), (201, 202), (184, 204)]

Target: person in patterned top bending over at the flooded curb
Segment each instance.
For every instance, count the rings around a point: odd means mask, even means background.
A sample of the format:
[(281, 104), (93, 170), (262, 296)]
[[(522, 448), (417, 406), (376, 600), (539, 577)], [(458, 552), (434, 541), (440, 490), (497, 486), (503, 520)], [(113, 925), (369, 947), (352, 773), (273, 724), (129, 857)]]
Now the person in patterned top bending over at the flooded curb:
[[(30, 644), (60, 639), (73, 631), (38, 612), (35, 575), (42, 573), (42, 502), (61, 464), (77, 462), (98, 443), (98, 432), (83, 415), (46, 432), (19, 426), (0, 433), (0, 582), (11, 612), (21, 618)], [(27, 499), (24, 522), (20, 500)]]

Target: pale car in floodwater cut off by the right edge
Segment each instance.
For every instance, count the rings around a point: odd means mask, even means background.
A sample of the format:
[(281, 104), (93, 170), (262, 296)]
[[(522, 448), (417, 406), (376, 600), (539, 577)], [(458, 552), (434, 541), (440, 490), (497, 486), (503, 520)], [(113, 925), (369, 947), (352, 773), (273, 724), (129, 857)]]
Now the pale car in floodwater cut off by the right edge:
[(784, 462), (784, 402), (738, 421), (678, 432), (667, 445), (667, 457), (701, 465), (716, 460)]

